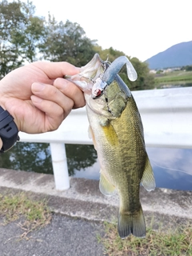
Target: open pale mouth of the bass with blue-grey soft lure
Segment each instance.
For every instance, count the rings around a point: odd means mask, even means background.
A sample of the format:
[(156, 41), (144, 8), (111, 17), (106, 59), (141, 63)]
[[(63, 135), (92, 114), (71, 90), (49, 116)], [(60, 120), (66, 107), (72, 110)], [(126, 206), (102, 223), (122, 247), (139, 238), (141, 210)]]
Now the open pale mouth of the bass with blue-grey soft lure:
[(108, 59), (102, 61), (99, 54), (94, 54), (94, 58), (86, 66), (82, 66), (79, 74), (66, 75), (64, 78), (74, 82), (85, 94), (91, 94), (93, 99), (97, 99), (102, 96), (106, 86), (110, 86), (118, 78), (118, 72), (125, 64), (128, 78), (130, 81), (135, 81), (138, 74), (126, 56), (118, 57), (110, 63)]

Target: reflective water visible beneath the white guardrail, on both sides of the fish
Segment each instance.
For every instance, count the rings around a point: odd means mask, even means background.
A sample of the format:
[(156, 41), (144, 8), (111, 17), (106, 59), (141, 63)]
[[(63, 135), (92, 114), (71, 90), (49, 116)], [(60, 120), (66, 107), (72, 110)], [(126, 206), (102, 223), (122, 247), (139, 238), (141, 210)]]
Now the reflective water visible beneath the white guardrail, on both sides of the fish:
[[(147, 148), (157, 187), (192, 190), (192, 150)], [(99, 179), (99, 164), (92, 145), (66, 145), (70, 176)], [(46, 143), (18, 142), (0, 154), (0, 167), (53, 174), (50, 146)]]

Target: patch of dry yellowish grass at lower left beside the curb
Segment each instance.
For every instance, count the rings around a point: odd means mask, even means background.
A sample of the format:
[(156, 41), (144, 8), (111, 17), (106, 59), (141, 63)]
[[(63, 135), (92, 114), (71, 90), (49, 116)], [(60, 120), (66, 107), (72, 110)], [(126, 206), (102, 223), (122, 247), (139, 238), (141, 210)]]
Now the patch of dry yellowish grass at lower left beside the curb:
[(21, 218), (18, 224), (23, 230), (21, 238), (28, 238), (31, 231), (46, 226), (51, 219), (46, 201), (33, 201), (24, 193), (0, 194), (0, 216), (2, 218), (0, 225), (6, 225)]

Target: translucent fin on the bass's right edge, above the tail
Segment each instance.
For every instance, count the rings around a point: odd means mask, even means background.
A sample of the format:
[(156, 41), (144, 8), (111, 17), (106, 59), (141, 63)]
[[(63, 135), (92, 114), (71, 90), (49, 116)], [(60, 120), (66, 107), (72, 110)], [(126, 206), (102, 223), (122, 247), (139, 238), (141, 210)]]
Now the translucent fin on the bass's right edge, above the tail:
[(150, 165), (150, 159), (148, 156), (146, 157), (146, 167), (144, 173), (142, 174), (142, 186), (144, 186), (147, 191), (154, 190), (156, 186), (154, 180), (154, 172)]

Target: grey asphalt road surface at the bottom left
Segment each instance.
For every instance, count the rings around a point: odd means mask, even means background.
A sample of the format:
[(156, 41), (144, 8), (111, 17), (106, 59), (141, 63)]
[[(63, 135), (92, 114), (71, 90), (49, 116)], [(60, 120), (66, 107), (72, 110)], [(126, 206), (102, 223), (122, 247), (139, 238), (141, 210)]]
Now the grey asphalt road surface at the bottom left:
[[(0, 219), (1, 222), (1, 219)], [(53, 214), (49, 225), (21, 239), (18, 222), (0, 226), (0, 256), (102, 256), (102, 224)]]

